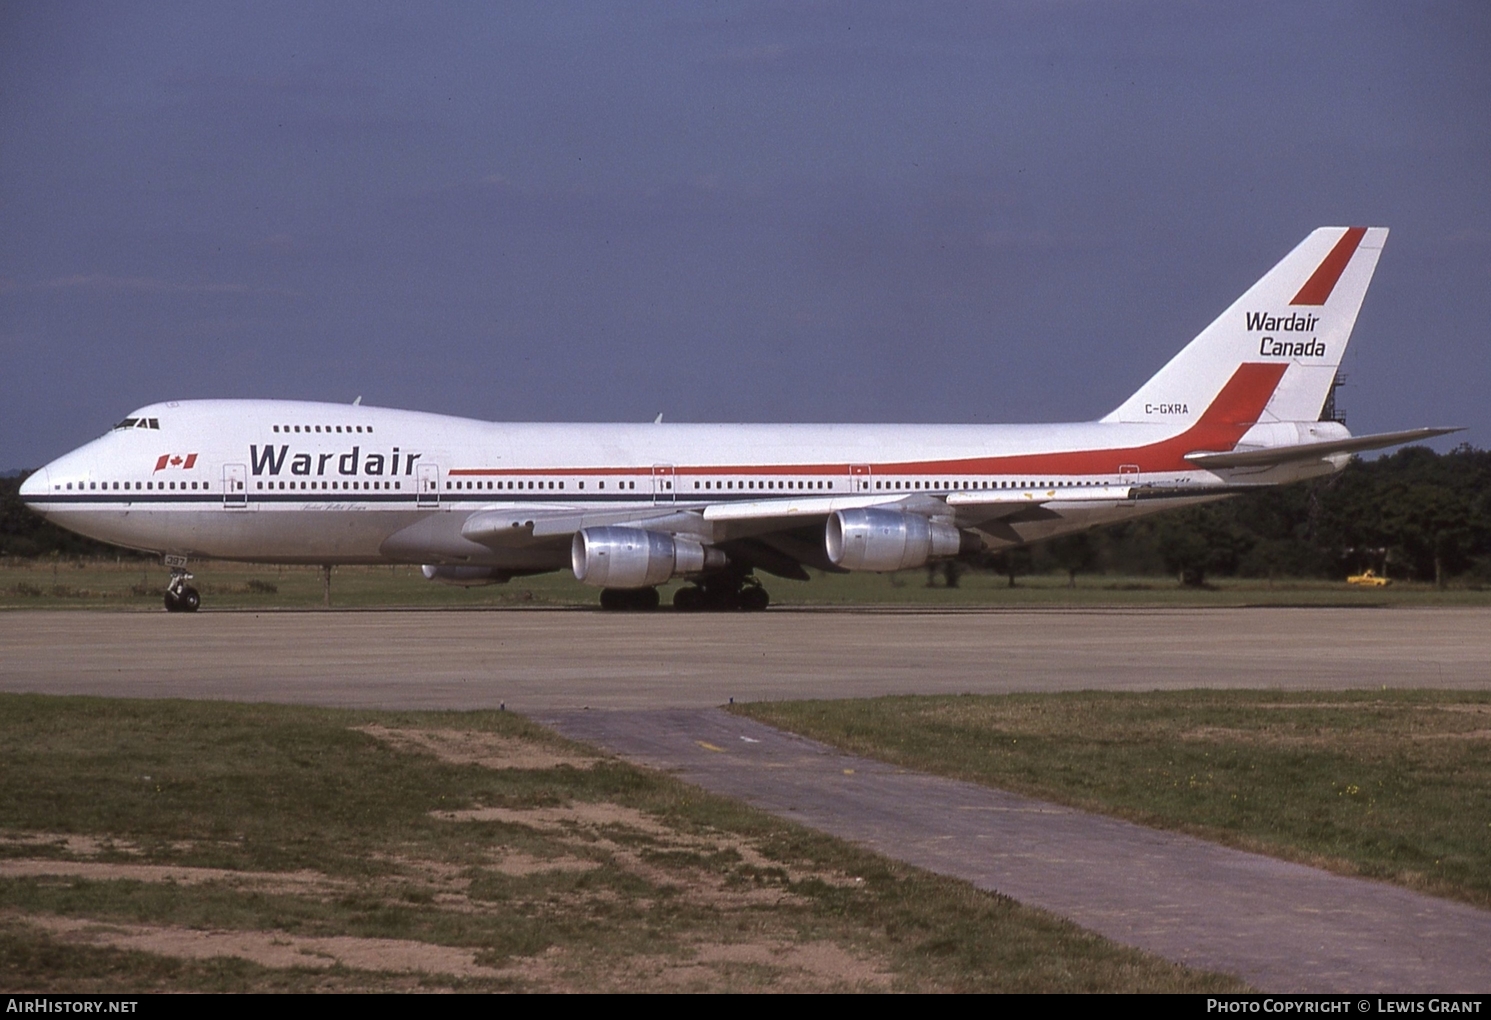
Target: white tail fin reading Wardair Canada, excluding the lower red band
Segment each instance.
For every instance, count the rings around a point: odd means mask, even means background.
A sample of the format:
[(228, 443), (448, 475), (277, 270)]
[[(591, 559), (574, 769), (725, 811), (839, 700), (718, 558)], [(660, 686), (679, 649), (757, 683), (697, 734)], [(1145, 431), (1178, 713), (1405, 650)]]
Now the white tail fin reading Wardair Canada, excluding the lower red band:
[(1249, 362), (1285, 365), (1260, 422), (1318, 419), (1387, 237), (1314, 231), (1103, 421), (1190, 425)]

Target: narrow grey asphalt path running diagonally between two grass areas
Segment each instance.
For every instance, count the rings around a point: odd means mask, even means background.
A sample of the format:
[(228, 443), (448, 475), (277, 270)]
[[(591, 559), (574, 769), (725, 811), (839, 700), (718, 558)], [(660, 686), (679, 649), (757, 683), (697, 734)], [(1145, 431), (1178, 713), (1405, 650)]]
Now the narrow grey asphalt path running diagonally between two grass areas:
[(1491, 911), (844, 755), (719, 708), (538, 719), (711, 792), (1269, 992), (1491, 987)]

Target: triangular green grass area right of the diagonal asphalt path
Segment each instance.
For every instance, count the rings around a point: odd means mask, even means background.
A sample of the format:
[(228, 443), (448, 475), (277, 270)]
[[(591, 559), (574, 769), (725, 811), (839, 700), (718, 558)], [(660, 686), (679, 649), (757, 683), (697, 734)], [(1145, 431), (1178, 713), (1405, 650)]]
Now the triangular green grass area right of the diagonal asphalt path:
[(898, 765), (1491, 907), (1491, 693), (738, 704)]

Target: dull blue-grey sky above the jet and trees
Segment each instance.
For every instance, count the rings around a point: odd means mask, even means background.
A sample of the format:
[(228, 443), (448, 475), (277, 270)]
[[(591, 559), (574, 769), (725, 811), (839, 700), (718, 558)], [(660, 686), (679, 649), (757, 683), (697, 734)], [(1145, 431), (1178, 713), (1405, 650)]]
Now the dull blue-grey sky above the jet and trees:
[(1491, 446), (1491, 4), (0, 3), (0, 467), (136, 406), (1097, 418), (1385, 225), (1354, 431)]

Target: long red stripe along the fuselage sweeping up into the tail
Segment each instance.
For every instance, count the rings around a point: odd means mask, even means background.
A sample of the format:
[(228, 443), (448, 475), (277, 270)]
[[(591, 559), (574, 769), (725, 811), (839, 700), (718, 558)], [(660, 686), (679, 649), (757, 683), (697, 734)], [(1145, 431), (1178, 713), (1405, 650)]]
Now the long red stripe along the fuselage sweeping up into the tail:
[[(1179, 435), (1173, 435), (1159, 443), (1145, 446), (1130, 446), (1108, 450), (1071, 450), (1066, 453), (1021, 453), (1015, 456), (978, 456), (954, 461), (905, 461), (896, 464), (877, 464), (874, 474), (1111, 474), (1118, 476), (1121, 468), (1138, 467), (1142, 473), (1154, 471), (1194, 471), (1196, 467), (1185, 459), (1187, 453), (1197, 450), (1221, 452), (1230, 450), (1238, 440), (1252, 428), (1269, 398), (1284, 377), (1285, 362), (1248, 362), (1238, 365), (1238, 370), (1221, 388), (1200, 419)], [(638, 476), (647, 474), (649, 468), (455, 468), (452, 477), (511, 477), (511, 476), (590, 476), (610, 477), (617, 474)], [(677, 467), (659, 468), (655, 471), (661, 477), (702, 477), (713, 474), (725, 476), (845, 476), (850, 473), (848, 464), (743, 464), (720, 467)], [(854, 465), (856, 474), (863, 474), (860, 465)]]

